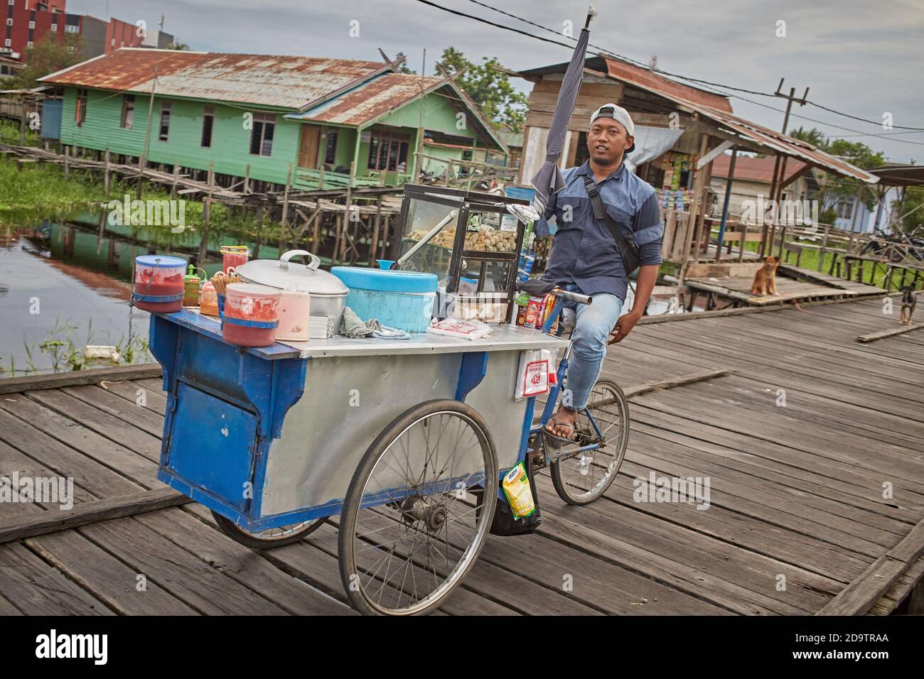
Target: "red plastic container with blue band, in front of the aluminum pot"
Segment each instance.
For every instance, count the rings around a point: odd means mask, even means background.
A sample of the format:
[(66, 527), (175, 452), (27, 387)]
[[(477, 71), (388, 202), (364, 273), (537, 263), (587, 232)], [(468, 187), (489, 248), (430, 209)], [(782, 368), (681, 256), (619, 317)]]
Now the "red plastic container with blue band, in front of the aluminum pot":
[(282, 290), (268, 285), (232, 283), (225, 287), (222, 337), (237, 346), (271, 346), (279, 325)]

